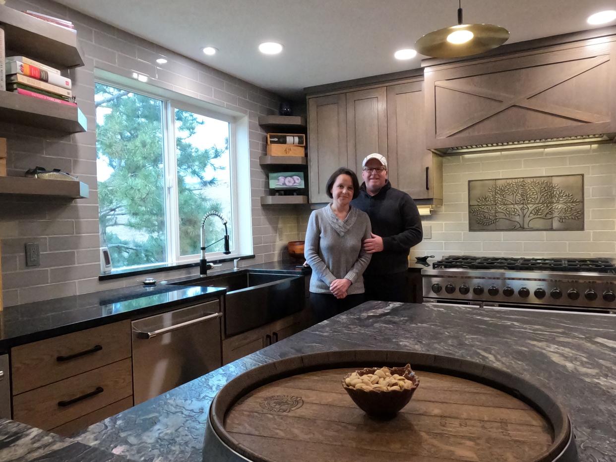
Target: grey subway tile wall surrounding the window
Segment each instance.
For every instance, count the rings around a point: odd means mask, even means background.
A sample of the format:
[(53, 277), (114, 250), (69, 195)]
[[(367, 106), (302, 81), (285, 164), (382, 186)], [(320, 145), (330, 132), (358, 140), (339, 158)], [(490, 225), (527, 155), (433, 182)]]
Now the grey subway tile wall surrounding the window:
[[(73, 172), (90, 188), (90, 197), (66, 201), (0, 198), (0, 240), (4, 305), (46, 300), (140, 283), (144, 276), (99, 282), (99, 226), (96, 179), (94, 68), (119, 75), (132, 70), (152, 76), (156, 86), (248, 115), (253, 240), (255, 259), (241, 265), (286, 257), (286, 242), (303, 238), (307, 207), (261, 208), (267, 194), (259, 156), (265, 155), (265, 132), (259, 115), (277, 113), (280, 97), (224, 72), (195, 62), (126, 31), (99, 22), (49, 0), (7, 0), (17, 10), (36, 10), (75, 23), (86, 65), (70, 71), (73, 92), (87, 117), (88, 131), (75, 135), (25, 126), (0, 124), (0, 137), (8, 140), (10, 176), (41, 165)], [(154, 67), (153, 57), (164, 54), (169, 70)], [(146, 61), (146, 62), (144, 62)], [(282, 239), (280, 237), (282, 236)], [(24, 244), (38, 242), (39, 267), (25, 267)], [(233, 267), (225, 263), (223, 268)], [(157, 273), (156, 278), (195, 274), (197, 269)]]

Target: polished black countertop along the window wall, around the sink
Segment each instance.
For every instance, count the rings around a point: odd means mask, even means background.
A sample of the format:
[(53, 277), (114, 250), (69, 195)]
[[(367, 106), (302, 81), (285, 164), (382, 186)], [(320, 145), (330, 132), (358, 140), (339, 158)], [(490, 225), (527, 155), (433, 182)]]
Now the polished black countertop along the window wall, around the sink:
[[(241, 267), (239, 271), (307, 274), (294, 262), (271, 262)], [(234, 270), (209, 272), (225, 274)], [(169, 280), (181, 282), (197, 277)], [(12, 346), (167, 309), (188, 301), (221, 296), (224, 288), (157, 284), (128, 286), (70, 297), (6, 307), (0, 312), (0, 351)]]

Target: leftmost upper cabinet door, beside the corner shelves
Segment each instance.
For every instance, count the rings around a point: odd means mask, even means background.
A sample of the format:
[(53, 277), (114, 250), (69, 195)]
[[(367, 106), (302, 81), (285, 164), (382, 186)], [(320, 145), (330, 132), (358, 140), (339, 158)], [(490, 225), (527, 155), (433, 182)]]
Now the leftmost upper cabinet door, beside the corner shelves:
[(329, 202), (325, 183), (341, 166), (347, 166), (346, 95), (308, 100), (308, 152), (310, 202)]

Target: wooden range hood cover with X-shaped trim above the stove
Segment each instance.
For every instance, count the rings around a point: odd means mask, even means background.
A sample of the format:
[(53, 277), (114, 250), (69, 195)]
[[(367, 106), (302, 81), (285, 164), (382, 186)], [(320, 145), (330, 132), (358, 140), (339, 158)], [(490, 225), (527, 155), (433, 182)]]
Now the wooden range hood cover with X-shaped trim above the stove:
[(426, 67), (426, 146), (449, 152), (616, 132), (614, 40)]

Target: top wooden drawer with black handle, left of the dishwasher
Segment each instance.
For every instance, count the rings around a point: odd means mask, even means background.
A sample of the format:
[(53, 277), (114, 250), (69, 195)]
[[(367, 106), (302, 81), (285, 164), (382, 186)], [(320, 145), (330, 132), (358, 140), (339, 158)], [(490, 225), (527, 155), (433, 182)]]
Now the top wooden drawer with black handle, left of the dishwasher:
[(18, 346), (11, 350), (13, 394), (130, 356), (129, 320)]

